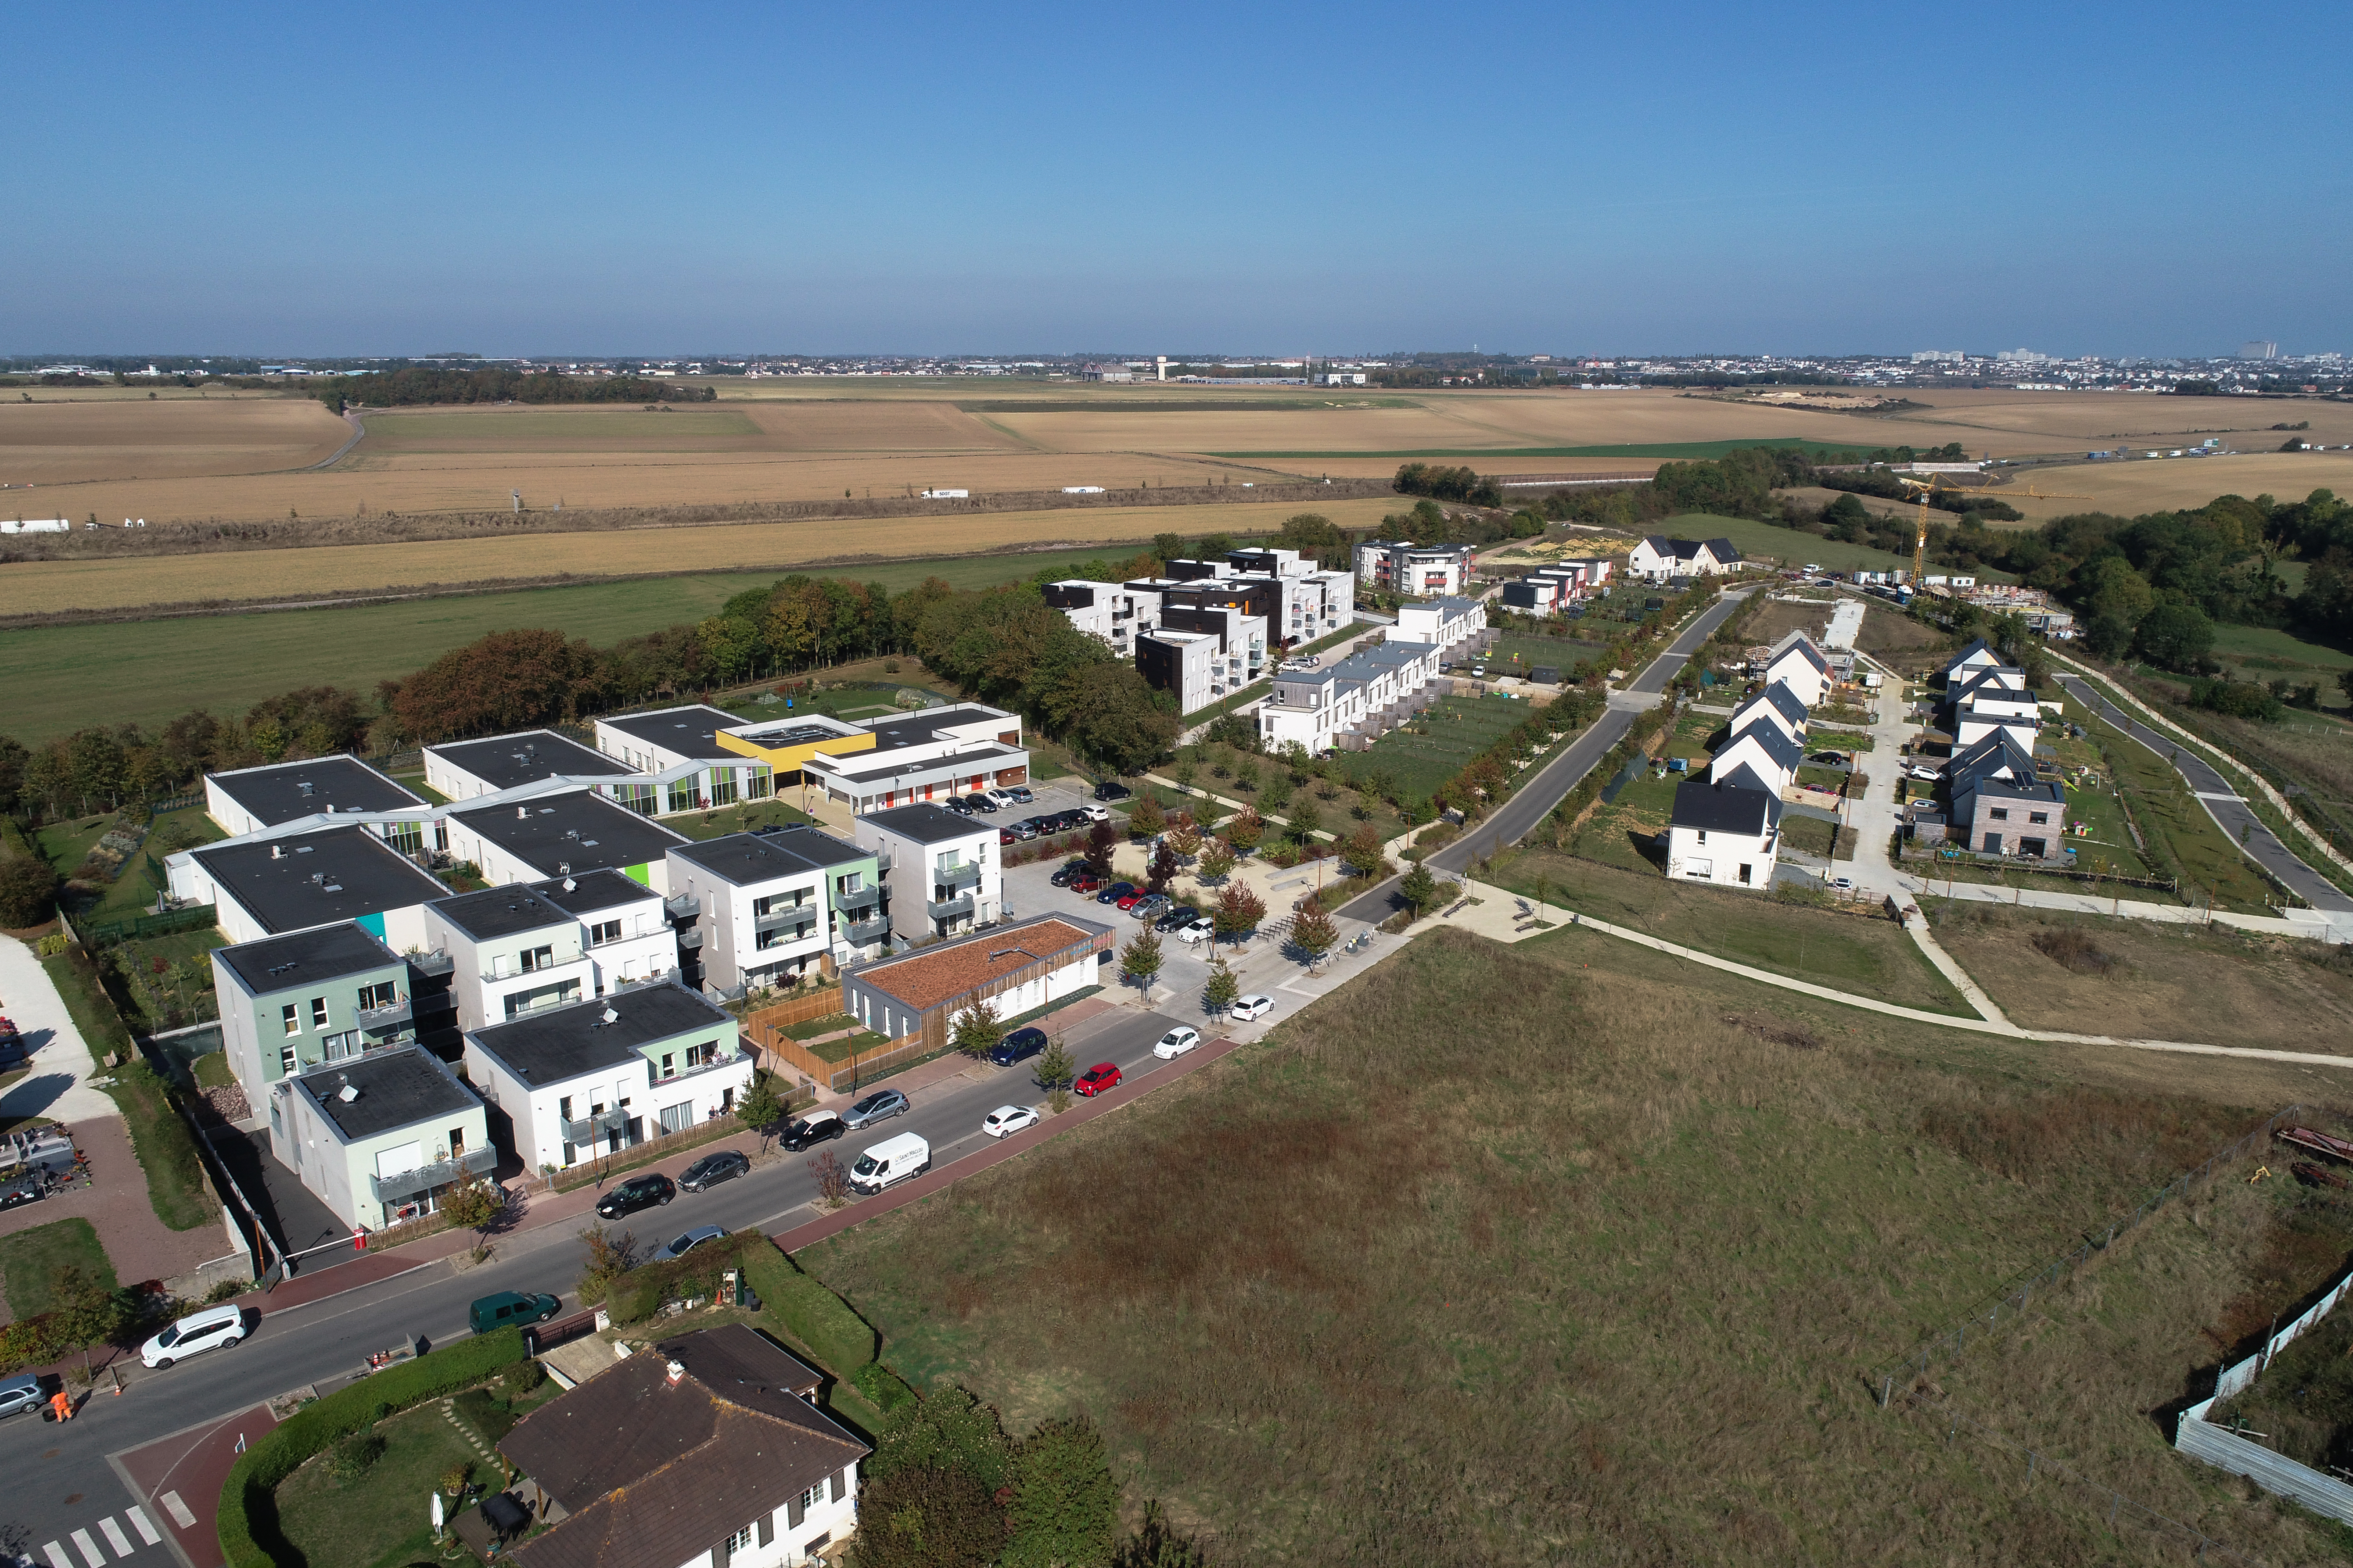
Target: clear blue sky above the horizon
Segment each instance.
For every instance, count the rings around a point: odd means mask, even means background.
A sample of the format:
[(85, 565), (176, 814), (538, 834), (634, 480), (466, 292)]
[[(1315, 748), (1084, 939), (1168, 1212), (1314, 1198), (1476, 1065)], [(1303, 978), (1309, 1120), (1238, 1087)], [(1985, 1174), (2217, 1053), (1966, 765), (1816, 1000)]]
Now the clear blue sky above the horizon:
[(2353, 350), (2353, 7), (7, 7), (0, 353)]

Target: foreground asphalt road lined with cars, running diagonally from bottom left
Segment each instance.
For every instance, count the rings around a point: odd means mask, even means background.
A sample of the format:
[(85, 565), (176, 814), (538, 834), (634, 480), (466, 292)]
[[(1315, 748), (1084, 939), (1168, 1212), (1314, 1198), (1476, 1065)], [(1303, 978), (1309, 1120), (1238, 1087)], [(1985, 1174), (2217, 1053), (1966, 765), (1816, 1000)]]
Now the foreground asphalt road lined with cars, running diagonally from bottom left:
[[(1155, 1067), (1167, 1067), (1153, 1058), (1153, 1041), (1179, 1023), (1200, 1027), (1202, 1018), (1198, 1011), (1184, 1016), (1181, 1004), (1169, 1004), (1167, 1016), (1122, 1006), (1073, 1030), (1068, 1044), (1080, 1072), (1108, 1060), (1118, 1063), (1127, 1077), (1148, 1077)], [(1207, 1034), (1212, 1030), (1205, 1030)], [(833, 1150), (842, 1164), (849, 1164), (871, 1143), (896, 1133), (922, 1133), (932, 1143), (932, 1166), (939, 1168), (988, 1145), (981, 1117), (991, 1110), (1035, 1105), (1042, 1093), (1031, 1079), (1028, 1065), (1021, 1065), (988, 1070), (986, 1081), (946, 1079), (911, 1098), (913, 1110), (904, 1117), (892, 1117), (864, 1133), (847, 1133), (838, 1143), (819, 1145), (819, 1150)], [(821, 1213), (814, 1208), (816, 1178), (807, 1164), (819, 1150), (762, 1166), (711, 1192), (682, 1192), (673, 1204), (640, 1211), (612, 1222), (612, 1227), (628, 1229), (640, 1248), (652, 1251), (696, 1225), (765, 1232), (798, 1225)], [(852, 1204), (856, 1201), (852, 1199)], [(106, 1455), (221, 1420), (285, 1389), (348, 1378), (369, 1352), (405, 1340), (426, 1338), (435, 1345), (456, 1340), (466, 1333), (468, 1302), (480, 1295), (546, 1291), (562, 1295), (567, 1307), (574, 1307), (579, 1298), (572, 1286), (584, 1258), (581, 1225), (548, 1225), (496, 1239), (494, 1258), (464, 1274), (452, 1274), (445, 1265), (428, 1265), (285, 1314), (264, 1316), (242, 1345), (207, 1352), (165, 1371), (146, 1373), (134, 1356), (129, 1366), (132, 1389), (115, 1399), (104, 1392), (101, 1382), (99, 1396), (64, 1427), (40, 1422), (33, 1415), (14, 1418), (12, 1434), (24, 1469), (16, 1486), (9, 1488), (0, 1521), (21, 1533), (12, 1530), (14, 1540), (0, 1542), (0, 1549), (28, 1552), (35, 1561), (47, 1561), (42, 1547), (54, 1540), (66, 1542), (71, 1556), (75, 1552), (73, 1530), (92, 1533), (96, 1540), (94, 1526), (106, 1516), (120, 1516), (129, 1502), (146, 1505), (148, 1516), (160, 1521), (160, 1509), (146, 1497), (134, 1497)], [(167, 1552), (169, 1547), (136, 1547), (132, 1559), (162, 1568)]]

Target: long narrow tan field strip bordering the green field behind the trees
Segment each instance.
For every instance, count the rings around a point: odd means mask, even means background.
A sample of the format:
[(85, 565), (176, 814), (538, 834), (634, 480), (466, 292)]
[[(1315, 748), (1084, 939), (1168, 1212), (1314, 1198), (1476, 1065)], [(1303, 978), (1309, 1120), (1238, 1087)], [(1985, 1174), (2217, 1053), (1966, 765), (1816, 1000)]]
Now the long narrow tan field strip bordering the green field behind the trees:
[[(1348, 529), (1381, 520), (1386, 501), (1332, 501)], [(285, 602), (369, 590), (532, 581), (551, 576), (654, 576), (668, 571), (784, 571), (824, 562), (925, 559), (1059, 545), (1127, 543), (1153, 534), (1266, 534), (1299, 505), (1212, 503), (986, 512), (967, 517), (824, 517), (598, 534), (315, 545), (221, 555), (14, 562), (0, 571), (9, 609), (134, 609), (141, 604)], [(847, 567), (854, 571), (854, 567)]]

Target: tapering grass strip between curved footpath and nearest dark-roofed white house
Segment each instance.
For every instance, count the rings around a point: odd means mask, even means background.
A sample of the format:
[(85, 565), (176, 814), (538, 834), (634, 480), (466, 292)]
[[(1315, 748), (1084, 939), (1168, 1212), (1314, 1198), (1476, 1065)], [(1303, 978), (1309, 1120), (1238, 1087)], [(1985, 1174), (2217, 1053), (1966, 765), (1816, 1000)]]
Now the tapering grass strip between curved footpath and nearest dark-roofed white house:
[(1534, 896), (1539, 877), (1551, 903), (1612, 926), (1633, 926), (1737, 964), (1899, 1006), (1977, 1016), (1892, 919), (1786, 905), (1760, 893), (1678, 886), (1652, 867), (1628, 872), (1548, 849), (1525, 849), (1499, 860), (1492, 882)]

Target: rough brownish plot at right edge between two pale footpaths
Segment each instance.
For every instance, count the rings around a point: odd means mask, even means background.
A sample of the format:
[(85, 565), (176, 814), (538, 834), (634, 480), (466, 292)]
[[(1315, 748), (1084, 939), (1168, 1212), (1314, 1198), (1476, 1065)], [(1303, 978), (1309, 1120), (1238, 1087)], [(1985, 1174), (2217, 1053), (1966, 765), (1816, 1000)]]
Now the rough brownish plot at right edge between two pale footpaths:
[(2337, 1056), (2353, 1041), (2353, 964), (2313, 961), (2341, 954), (2318, 943), (1972, 903), (1939, 903), (1937, 940), (2033, 1030)]

